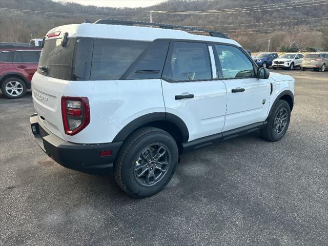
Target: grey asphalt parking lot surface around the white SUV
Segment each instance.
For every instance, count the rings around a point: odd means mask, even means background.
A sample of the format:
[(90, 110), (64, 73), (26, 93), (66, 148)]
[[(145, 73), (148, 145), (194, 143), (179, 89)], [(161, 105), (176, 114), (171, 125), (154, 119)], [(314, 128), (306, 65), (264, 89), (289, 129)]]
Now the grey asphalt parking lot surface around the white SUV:
[(327, 245), (328, 71), (275, 72), (296, 80), (282, 140), (255, 133), (183, 155), (147, 199), (59, 166), (31, 133), (31, 92), (0, 93), (0, 245)]

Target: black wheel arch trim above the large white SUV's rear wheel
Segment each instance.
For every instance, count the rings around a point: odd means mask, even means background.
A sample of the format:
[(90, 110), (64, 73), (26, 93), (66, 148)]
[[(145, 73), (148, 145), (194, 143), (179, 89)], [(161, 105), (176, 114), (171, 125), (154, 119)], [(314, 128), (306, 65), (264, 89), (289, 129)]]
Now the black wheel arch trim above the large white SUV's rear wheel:
[(128, 125), (126, 125), (117, 133), (117, 135), (114, 137), (112, 142), (124, 141), (133, 131), (140, 128), (141, 126), (144, 126), (154, 121), (169, 121), (173, 123), (181, 131), (182, 142), (188, 141), (189, 131), (185, 122), (183, 122), (183, 120), (180, 117), (166, 112), (154, 112), (154, 113), (142, 115), (129, 122)]

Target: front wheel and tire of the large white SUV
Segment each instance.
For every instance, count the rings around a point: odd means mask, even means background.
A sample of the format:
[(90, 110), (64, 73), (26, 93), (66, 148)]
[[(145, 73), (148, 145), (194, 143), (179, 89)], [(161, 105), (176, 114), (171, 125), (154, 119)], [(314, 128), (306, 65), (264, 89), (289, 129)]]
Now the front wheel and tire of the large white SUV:
[[(281, 114), (282, 112), (282, 114)], [(279, 121), (277, 118), (286, 114), (284, 121)], [(286, 133), (289, 122), (291, 119), (291, 108), (289, 104), (285, 100), (278, 100), (277, 103), (274, 105), (271, 114), (267, 119), (267, 125), (261, 130), (261, 137), (268, 141), (278, 141), (280, 140)], [(278, 124), (276, 124), (278, 122)], [(281, 122), (281, 124), (280, 124)], [(278, 126), (278, 132), (276, 131)], [(284, 125), (283, 129), (280, 125)]]

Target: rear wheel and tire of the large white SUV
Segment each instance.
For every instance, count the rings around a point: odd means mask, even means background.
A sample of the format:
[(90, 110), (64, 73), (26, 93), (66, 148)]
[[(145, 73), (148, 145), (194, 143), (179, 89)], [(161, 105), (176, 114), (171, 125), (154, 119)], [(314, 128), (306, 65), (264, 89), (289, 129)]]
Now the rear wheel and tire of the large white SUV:
[[(160, 154), (163, 156), (155, 161), (153, 157)], [(151, 127), (138, 129), (124, 142), (116, 158), (117, 185), (134, 198), (152, 196), (171, 180), (178, 157), (178, 147), (169, 133)]]

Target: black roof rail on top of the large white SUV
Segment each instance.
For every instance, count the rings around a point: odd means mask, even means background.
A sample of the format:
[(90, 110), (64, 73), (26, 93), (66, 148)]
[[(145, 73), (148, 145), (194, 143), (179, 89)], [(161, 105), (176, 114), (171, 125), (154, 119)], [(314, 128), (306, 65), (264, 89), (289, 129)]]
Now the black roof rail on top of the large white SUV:
[(229, 37), (226, 34), (215, 31), (215, 30), (202, 29), (202, 28), (197, 28), (197, 27), (161, 24), (161, 23), (138, 22), (136, 20), (98, 19), (95, 22), (95, 24), (122, 25), (122, 26), (145, 25), (145, 26), (156, 26), (156, 27), (165, 28), (165, 29), (174, 29), (174, 28), (185, 29), (185, 30), (192, 30), (192, 31), (207, 32), (212, 37), (222, 37), (222, 38), (229, 39)]

